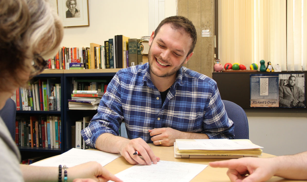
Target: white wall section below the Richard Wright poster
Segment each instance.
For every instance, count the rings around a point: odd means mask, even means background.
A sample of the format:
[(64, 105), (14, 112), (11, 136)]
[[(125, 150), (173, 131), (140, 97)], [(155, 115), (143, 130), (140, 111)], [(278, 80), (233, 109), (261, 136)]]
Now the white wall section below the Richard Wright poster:
[[(307, 113), (246, 110), (250, 140), (273, 155), (307, 150)], [(271, 110), (272, 111), (272, 110)]]

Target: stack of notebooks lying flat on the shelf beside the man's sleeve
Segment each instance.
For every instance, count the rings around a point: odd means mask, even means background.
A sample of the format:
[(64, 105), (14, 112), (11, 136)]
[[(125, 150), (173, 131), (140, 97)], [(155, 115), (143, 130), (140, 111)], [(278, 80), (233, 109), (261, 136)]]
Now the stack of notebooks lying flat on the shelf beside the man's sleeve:
[(73, 90), (68, 99), (70, 110), (96, 110), (104, 93), (97, 90)]

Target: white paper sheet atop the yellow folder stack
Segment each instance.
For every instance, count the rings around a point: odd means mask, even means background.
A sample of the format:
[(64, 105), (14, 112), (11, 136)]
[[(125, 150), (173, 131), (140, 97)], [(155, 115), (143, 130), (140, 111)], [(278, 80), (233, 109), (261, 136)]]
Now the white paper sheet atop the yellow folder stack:
[(229, 139), (195, 139), (190, 141), (176, 140), (179, 150), (243, 150), (263, 148), (246, 140)]

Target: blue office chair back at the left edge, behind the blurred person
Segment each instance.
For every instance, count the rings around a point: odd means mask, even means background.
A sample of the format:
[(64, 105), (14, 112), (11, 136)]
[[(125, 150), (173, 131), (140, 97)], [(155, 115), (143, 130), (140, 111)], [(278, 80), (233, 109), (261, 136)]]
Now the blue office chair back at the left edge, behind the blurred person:
[(9, 129), (13, 140), (15, 141), (16, 103), (14, 100), (11, 98), (6, 100), (4, 107), (0, 110), (0, 116), (6, 124), (6, 127)]

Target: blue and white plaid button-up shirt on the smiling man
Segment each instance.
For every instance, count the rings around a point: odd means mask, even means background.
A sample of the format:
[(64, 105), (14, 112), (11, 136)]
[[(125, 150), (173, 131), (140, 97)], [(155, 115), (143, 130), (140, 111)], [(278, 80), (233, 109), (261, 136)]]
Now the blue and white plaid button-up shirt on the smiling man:
[(99, 135), (119, 135), (122, 120), (130, 139), (140, 137), (147, 143), (152, 143), (148, 129), (162, 127), (204, 133), (209, 138), (234, 136), (234, 125), (216, 82), (186, 67), (178, 70), (163, 105), (151, 82), (148, 63), (119, 70), (100, 101), (98, 113), (81, 135), (87, 145), (95, 147)]

